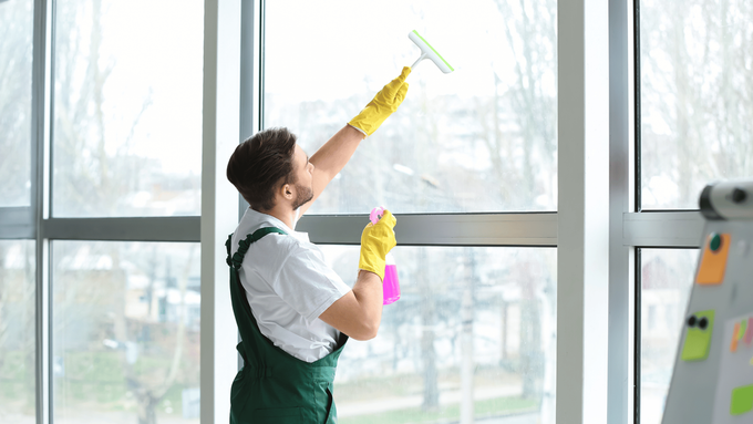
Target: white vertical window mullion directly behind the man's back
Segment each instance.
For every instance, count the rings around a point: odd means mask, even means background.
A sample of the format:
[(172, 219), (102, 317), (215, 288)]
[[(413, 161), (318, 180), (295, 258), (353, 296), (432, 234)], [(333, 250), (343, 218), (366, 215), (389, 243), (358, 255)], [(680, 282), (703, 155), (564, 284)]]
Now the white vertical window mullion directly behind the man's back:
[(238, 223), (238, 193), (226, 183), (225, 167), (240, 138), (241, 10), (240, 0), (204, 2), (200, 420), (207, 424), (227, 422), (224, 393), (237, 371), (237, 354), (227, 349), (237, 331), (225, 241)]

